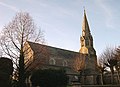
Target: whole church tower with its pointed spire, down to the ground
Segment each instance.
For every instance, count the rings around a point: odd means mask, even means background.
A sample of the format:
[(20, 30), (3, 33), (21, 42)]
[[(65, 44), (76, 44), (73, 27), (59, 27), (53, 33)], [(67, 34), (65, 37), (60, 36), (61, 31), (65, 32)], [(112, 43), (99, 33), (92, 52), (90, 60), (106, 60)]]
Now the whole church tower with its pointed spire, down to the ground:
[(86, 12), (84, 10), (84, 17), (82, 22), (82, 35), (80, 37), (81, 42), (81, 48), (80, 48), (80, 54), (85, 55), (84, 57), (84, 70), (82, 74), (84, 76), (91, 76), (90, 78), (86, 78), (84, 81), (87, 82), (87, 84), (96, 84), (95, 78), (97, 75), (97, 56), (96, 51), (93, 47), (93, 37), (90, 32)]

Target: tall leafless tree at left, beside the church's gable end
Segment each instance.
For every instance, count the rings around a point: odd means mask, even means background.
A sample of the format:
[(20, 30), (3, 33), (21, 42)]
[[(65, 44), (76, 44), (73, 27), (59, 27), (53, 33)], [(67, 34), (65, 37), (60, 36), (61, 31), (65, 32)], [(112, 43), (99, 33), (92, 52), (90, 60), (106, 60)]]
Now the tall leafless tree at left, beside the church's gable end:
[(44, 42), (41, 29), (37, 29), (33, 19), (26, 12), (19, 12), (1, 32), (1, 48), (18, 69), (19, 87), (24, 87), (25, 62), (24, 44), (26, 41)]

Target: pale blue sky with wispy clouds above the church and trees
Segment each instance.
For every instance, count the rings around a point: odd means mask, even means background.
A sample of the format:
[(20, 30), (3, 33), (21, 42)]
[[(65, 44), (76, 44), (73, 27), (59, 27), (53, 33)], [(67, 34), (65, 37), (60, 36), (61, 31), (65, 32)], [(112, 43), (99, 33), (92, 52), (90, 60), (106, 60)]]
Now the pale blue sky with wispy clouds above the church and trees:
[(94, 48), (120, 45), (120, 0), (0, 0), (0, 31), (17, 12), (28, 12), (47, 45), (79, 52), (84, 7)]

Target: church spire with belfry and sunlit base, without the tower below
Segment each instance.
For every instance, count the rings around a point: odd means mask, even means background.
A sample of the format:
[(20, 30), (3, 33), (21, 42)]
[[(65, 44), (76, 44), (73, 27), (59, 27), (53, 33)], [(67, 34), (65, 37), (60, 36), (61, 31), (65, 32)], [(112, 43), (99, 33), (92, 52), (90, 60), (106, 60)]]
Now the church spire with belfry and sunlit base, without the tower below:
[(89, 28), (85, 9), (84, 9), (83, 22), (82, 22), (82, 36), (80, 37), (80, 41), (81, 41), (80, 53), (89, 54), (91, 49), (94, 50), (93, 38), (90, 33), (90, 28)]

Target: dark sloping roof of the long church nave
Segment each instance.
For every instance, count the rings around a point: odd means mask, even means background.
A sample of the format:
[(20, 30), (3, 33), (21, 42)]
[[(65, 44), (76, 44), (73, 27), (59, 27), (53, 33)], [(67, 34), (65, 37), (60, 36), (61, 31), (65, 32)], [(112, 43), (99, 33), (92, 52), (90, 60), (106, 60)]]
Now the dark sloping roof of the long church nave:
[(31, 49), (34, 52), (41, 52), (41, 49), (45, 48), (45, 50), (47, 50), (50, 53), (50, 55), (58, 56), (58, 57), (62, 57), (62, 58), (73, 58), (79, 54), (79, 52), (56, 48), (56, 47), (43, 45), (43, 44), (39, 44), (39, 43), (34, 43), (34, 42), (30, 42), (30, 41), (28, 41), (28, 44), (30, 45)]

